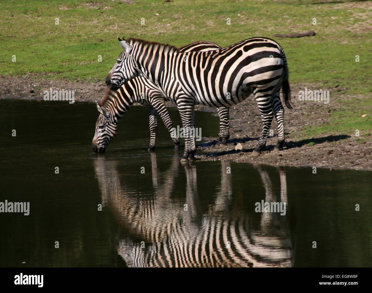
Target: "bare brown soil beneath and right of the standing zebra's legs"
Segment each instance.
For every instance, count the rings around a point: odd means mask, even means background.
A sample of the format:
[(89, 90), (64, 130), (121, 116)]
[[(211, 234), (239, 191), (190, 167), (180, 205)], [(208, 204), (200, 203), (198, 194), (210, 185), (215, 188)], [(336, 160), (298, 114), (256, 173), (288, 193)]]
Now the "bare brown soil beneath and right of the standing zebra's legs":
[[(292, 94), (298, 93), (304, 87), (292, 84)], [(330, 92), (334, 92), (331, 96), (336, 95), (337, 90), (330, 89)], [(299, 130), (305, 126), (317, 127), (328, 122), (332, 118), (332, 113), (340, 109), (341, 105), (333, 102), (325, 104), (316, 101), (299, 101), (293, 95), (291, 102), (293, 109), (285, 108), (284, 113), (286, 134), (284, 150), (274, 151), (277, 143), (277, 124), (274, 118), (271, 127), (274, 130), (274, 136), (268, 138), (266, 147), (259, 157), (252, 156), (252, 151), (261, 133), (262, 123), (256, 101), (253, 97), (249, 97), (230, 108), (230, 139), (227, 146), (217, 146), (217, 137), (205, 138), (206, 141), (211, 142), (199, 144), (198, 149), (202, 151), (202, 160), (233, 160), (274, 166), (372, 170), (371, 141), (357, 142), (353, 134), (337, 131), (305, 140), (300, 139), (298, 135)], [(201, 105), (196, 108), (210, 109)], [(202, 125), (201, 121), (196, 121), (196, 127), (198, 124)], [(235, 150), (238, 143), (241, 144), (242, 150)], [(201, 151), (197, 153), (200, 154)]]

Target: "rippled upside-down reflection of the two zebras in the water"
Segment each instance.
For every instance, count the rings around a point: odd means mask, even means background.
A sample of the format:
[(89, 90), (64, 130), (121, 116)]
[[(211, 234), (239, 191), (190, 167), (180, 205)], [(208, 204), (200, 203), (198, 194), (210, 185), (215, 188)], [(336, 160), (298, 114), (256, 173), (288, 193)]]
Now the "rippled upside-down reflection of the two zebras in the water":
[[(247, 211), (231, 211), (230, 162), (221, 161), (221, 186), (213, 204), (201, 213), (196, 165), (171, 159), (169, 169), (159, 172), (156, 154), (150, 153), (153, 197), (138, 196), (119, 175), (118, 162), (97, 158), (94, 162), (102, 194), (126, 232), (119, 233), (117, 251), (129, 267), (291, 267), (293, 249), (287, 216), (260, 213), (260, 228), (250, 223)], [(186, 174), (185, 204), (174, 199), (179, 168)], [(260, 166), (265, 202), (276, 202), (269, 174)], [(279, 169), (280, 201), (287, 202), (284, 169)], [(165, 178), (162, 183), (161, 178)], [(187, 204), (187, 211), (185, 205)], [(254, 208), (254, 207), (253, 207)], [(252, 210), (253, 210), (252, 208)]]

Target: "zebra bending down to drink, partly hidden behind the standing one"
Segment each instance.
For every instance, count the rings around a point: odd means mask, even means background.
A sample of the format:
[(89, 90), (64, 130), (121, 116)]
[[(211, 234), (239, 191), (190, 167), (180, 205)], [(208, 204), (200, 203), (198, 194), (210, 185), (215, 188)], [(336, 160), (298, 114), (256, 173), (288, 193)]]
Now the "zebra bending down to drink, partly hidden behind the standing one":
[[(217, 44), (207, 41), (198, 41), (185, 45), (178, 50), (180, 52), (206, 51), (220, 49)], [(150, 144), (148, 150), (155, 149), (155, 136), (157, 129), (157, 116), (159, 115), (164, 125), (170, 132), (174, 143), (174, 149), (179, 149), (179, 138), (173, 128), (165, 105), (162, 92), (154, 83), (144, 77), (137, 77), (124, 83), (117, 90), (108, 90), (101, 103), (97, 103), (97, 110), (100, 113), (96, 122), (96, 129), (92, 141), (94, 152), (105, 152), (108, 144), (115, 136), (120, 118), (126, 110), (134, 103), (148, 106), (150, 124)], [(220, 119), (217, 144), (226, 145), (230, 137), (229, 133), (229, 108), (218, 108)]]

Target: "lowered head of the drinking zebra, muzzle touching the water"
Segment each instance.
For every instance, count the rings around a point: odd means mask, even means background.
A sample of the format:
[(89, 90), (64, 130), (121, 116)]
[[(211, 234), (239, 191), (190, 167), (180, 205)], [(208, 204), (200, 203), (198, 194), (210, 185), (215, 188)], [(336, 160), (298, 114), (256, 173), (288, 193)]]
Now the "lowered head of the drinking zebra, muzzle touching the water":
[(92, 141), (93, 152), (104, 153), (112, 138), (116, 135), (118, 122), (110, 109), (97, 103), (99, 117), (96, 122), (96, 132)]

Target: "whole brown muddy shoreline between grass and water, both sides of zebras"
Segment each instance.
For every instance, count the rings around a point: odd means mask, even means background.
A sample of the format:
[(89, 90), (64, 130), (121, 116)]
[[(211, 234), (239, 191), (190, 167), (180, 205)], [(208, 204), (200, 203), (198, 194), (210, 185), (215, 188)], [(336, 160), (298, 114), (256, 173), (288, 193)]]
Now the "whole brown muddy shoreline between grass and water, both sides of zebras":
[[(75, 101), (100, 102), (106, 92), (103, 81), (73, 82), (48, 80), (35, 76), (9, 77), (0, 76), (0, 99), (43, 99), (44, 90), (75, 90)], [(291, 84), (292, 96), (304, 85)], [(340, 90), (331, 87), (333, 94)], [(370, 140), (358, 142), (350, 133), (325, 133), (318, 137), (302, 139), (299, 130), (305, 126), (318, 127), (332, 118), (332, 113), (340, 109), (340, 103), (325, 104), (316, 101), (298, 101), (292, 98), (293, 110), (285, 108), (284, 130), (286, 133), (284, 150), (273, 151), (276, 144), (276, 121), (273, 120), (274, 136), (269, 137), (266, 147), (259, 157), (251, 156), (261, 131), (261, 118), (253, 98), (230, 108), (230, 140), (227, 146), (217, 146), (216, 137), (205, 137), (208, 143), (198, 145), (197, 158), (201, 160), (232, 160), (253, 164), (273, 166), (307, 166), (330, 169), (372, 170), (372, 143)], [(170, 106), (173, 106), (170, 104)], [(216, 109), (196, 105), (196, 110), (211, 111)], [(196, 121), (196, 127), (202, 121)], [(240, 143), (242, 149), (235, 150)]]

